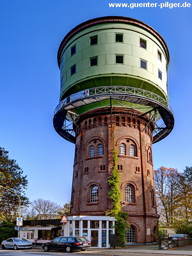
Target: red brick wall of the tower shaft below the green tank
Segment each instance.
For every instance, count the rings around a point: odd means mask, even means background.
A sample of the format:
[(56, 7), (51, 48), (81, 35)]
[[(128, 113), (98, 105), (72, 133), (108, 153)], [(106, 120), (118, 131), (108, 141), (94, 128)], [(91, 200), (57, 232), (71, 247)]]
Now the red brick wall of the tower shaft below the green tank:
[[(147, 228), (152, 232), (157, 225), (156, 200), (154, 199), (152, 205), (151, 198), (151, 189), (155, 191), (152, 164), (154, 124), (148, 123), (148, 116), (141, 116), (142, 113), (132, 109), (113, 108), (113, 113), (110, 114), (110, 109), (97, 109), (81, 116), (77, 122), (81, 131), (76, 129), (78, 154), (74, 163), (71, 214), (104, 215), (111, 209), (107, 180), (113, 168), (115, 143), (118, 151), (123, 211), (129, 212), (129, 222), (136, 228), (136, 242), (150, 243), (153, 237), (147, 235)], [(99, 143), (104, 145), (104, 155), (89, 157), (89, 145), (97, 148)], [(121, 143), (126, 145), (126, 156), (120, 155)], [(129, 156), (130, 144), (135, 145), (136, 156)], [(151, 159), (148, 159), (149, 157)], [(97, 203), (90, 203), (89, 191), (93, 184), (99, 187)], [(124, 191), (127, 184), (134, 188), (134, 202), (125, 202)]]

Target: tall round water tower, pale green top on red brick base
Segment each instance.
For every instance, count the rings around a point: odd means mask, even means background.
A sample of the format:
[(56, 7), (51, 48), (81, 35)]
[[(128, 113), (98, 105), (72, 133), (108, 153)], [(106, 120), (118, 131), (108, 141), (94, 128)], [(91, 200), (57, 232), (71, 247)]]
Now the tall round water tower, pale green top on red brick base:
[(60, 44), (60, 103), (54, 128), (75, 144), (67, 235), (108, 247), (115, 219), (108, 177), (114, 143), (127, 243), (151, 243), (157, 232), (152, 143), (173, 129), (168, 104), (169, 52), (157, 31), (140, 20), (99, 17), (72, 29)]

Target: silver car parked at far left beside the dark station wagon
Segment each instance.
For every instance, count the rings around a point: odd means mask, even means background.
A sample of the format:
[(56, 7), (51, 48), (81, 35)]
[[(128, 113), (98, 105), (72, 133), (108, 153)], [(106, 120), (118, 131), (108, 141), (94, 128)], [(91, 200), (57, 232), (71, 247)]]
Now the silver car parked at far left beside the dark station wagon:
[(1, 243), (2, 249), (31, 249), (32, 243), (24, 238), (10, 237)]

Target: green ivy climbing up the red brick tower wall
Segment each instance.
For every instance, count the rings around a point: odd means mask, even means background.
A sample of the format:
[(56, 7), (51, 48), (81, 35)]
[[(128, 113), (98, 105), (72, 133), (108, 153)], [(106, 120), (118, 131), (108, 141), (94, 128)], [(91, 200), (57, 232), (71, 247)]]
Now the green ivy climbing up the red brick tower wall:
[(117, 151), (114, 145), (113, 150), (113, 170), (111, 172), (111, 176), (108, 178), (108, 184), (111, 189), (108, 191), (108, 197), (111, 198), (113, 202), (113, 207), (108, 212), (108, 215), (111, 217), (115, 217), (115, 234), (116, 234), (116, 242), (118, 244), (123, 245), (125, 243), (125, 230), (129, 227), (129, 222), (127, 218), (129, 214), (127, 212), (122, 211), (121, 205), (121, 191), (120, 191), (120, 174), (117, 170)]

